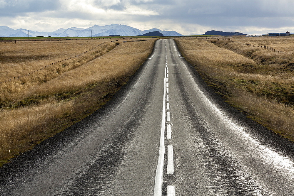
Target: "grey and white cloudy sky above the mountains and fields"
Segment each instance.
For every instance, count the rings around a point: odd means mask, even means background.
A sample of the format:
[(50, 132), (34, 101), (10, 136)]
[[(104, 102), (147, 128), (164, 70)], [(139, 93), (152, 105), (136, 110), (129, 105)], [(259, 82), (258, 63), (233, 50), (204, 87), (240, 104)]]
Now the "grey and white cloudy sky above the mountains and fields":
[(32, 31), (125, 24), (183, 35), (294, 32), (293, 0), (0, 0), (0, 26)]

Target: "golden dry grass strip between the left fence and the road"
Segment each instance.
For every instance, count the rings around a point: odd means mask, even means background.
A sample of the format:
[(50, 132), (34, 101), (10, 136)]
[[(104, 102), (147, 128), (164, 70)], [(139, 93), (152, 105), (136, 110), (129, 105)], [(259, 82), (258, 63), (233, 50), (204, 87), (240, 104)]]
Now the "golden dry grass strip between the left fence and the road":
[[(30, 77), (2, 83), (2, 162), (105, 104), (146, 60), (152, 52), (154, 42), (155, 39), (105, 43), (91, 53), (67, 61), (66, 66), (59, 63)], [(91, 47), (94, 45), (97, 43)], [(86, 43), (84, 47), (88, 50)], [(77, 53), (79, 52), (84, 51)], [(58, 51), (54, 53), (59, 55)], [(42, 63), (41, 59), (39, 61)], [(56, 73), (58, 66), (60, 71)]]

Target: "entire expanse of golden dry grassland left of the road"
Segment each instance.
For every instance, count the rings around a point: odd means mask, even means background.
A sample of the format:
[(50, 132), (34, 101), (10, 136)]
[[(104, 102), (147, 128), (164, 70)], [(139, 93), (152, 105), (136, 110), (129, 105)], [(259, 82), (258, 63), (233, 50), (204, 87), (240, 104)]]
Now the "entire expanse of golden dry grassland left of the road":
[(155, 40), (0, 43), (0, 165), (105, 104)]

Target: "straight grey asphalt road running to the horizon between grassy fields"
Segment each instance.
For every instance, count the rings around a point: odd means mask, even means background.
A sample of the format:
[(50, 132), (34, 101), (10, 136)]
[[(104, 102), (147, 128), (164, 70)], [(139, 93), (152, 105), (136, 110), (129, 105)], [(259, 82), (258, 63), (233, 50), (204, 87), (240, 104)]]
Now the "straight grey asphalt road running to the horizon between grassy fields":
[(290, 195), (293, 150), (161, 39), (104, 107), (0, 168), (0, 195)]

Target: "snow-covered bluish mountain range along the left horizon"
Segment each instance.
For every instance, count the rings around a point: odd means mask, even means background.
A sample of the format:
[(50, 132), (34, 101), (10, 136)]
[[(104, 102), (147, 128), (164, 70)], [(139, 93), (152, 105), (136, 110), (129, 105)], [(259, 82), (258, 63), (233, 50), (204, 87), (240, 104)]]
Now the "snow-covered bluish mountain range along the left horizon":
[(141, 31), (137, 28), (133, 28), (127, 25), (111, 24), (105, 26), (94, 25), (86, 29), (76, 27), (67, 29), (60, 28), (53, 32), (38, 32), (22, 28), (14, 30), (8, 26), (0, 26), (0, 37), (90, 37), (91, 33), (93, 37), (109, 35), (138, 36), (153, 31), (158, 31), (159, 33), (162, 33), (163, 36), (182, 36), (176, 31), (161, 31), (157, 28)]

